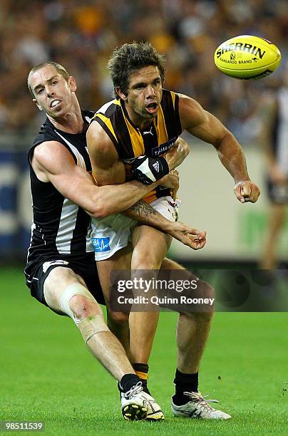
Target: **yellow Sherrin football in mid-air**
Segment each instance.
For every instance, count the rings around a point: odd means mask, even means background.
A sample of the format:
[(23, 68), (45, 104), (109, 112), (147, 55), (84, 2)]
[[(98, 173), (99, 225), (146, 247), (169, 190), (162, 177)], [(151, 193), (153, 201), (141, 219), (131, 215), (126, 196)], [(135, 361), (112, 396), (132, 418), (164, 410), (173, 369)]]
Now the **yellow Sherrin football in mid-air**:
[(217, 68), (227, 76), (239, 79), (259, 79), (276, 70), (281, 61), (277, 46), (259, 36), (235, 36), (215, 51)]

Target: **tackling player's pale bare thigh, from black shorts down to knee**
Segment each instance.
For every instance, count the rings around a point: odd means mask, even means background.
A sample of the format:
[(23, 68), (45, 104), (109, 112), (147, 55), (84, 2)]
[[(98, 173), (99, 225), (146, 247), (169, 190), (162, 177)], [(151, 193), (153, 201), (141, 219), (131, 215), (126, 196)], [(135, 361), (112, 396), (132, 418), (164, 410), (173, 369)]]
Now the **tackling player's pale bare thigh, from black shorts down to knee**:
[(53, 268), (46, 278), (43, 286), (43, 293), (46, 303), (53, 311), (61, 313), (60, 297), (64, 289), (71, 284), (81, 284), (86, 286), (81, 276), (70, 268), (57, 266)]

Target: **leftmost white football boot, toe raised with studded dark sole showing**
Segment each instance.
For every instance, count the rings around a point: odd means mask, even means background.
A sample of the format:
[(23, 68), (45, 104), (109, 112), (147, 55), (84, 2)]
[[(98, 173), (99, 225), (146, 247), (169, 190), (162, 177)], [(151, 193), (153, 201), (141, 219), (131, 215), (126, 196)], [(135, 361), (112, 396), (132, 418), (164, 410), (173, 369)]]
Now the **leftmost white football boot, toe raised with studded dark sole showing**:
[(145, 420), (148, 410), (143, 401), (143, 388), (141, 382), (138, 382), (127, 392), (121, 392), (121, 412), (125, 420)]

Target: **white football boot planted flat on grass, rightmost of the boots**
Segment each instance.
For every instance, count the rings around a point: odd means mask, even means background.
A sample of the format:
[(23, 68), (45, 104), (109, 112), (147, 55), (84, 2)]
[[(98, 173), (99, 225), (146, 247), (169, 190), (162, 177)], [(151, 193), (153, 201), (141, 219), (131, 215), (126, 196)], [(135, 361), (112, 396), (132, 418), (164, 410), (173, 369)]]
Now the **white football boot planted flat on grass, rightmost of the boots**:
[(183, 392), (189, 397), (189, 401), (183, 405), (175, 405), (171, 401), (173, 415), (191, 418), (203, 418), (206, 420), (229, 420), (228, 413), (213, 409), (208, 403), (219, 403), (217, 400), (205, 400), (200, 392)]

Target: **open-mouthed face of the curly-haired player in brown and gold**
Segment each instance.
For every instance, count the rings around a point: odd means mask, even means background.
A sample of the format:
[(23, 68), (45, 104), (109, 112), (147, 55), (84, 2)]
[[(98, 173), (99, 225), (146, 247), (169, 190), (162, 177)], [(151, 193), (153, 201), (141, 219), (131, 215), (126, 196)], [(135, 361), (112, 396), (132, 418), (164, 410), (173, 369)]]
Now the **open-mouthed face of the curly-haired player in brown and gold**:
[(130, 118), (135, 123), (153, 120), (162, 98), (162, 81), (157, 66), (147, 66), (132, 73), (124, 98)]

